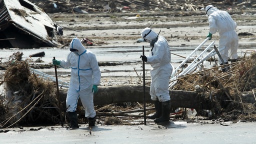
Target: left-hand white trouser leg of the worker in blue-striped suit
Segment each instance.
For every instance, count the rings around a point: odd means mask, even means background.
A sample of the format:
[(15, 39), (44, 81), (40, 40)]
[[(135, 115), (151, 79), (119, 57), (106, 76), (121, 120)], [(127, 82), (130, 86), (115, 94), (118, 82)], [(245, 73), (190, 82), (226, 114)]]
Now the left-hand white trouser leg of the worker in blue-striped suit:
[(66, 95), (66, 112), (76, 111), (79, 93), (75, 88), (69, 88)]

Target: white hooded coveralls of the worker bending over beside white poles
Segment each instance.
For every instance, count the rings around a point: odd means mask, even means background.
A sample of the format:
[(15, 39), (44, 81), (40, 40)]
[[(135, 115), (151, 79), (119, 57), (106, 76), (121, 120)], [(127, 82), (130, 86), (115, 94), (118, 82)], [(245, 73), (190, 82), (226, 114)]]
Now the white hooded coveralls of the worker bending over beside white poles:
[[(209, 32), (214, 34), (218, 31), (219, 33), (218, 49), (224, 62), (227, 62), (228, 56), (230, 59), (237, 59), (238, 36), (235, 31), (236, 22), (228, 12), (219, 10), (212, 5), (207, 5), (205, 11), (208, 15)], [(220, 59), (218, 59), (218, 62), (219, 64), (222, 63)]]

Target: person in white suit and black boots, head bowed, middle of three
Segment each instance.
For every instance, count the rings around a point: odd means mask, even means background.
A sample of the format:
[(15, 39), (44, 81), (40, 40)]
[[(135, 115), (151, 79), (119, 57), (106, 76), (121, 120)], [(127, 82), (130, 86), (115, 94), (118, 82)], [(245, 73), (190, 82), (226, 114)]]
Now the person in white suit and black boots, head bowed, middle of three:
[(151, 84), (149, 94), (154, 101), (156, 110), (153, 115), (147, 117), (154, 119), (155, 123), (169, 121), (170, 96), (168, 85), (172, 72), (169, 45), (163, 36), (158, 36), (149, 27), (141, 31), (141, 36), (151, 46), (149, 56), (140, 55), (140, 57), (144, 62), (152, 66), (150, 71)]

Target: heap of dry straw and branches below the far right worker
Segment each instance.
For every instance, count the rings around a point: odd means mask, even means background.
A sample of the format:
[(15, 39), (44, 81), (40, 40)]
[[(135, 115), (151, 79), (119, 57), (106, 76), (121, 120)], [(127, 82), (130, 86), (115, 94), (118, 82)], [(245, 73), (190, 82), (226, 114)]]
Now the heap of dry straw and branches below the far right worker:
[[(178, 78), (173, 89), (198, 91), (212, 100), (214, 118), (256, 120), (256, 52), (230, 63), (230, 70), (212, 67)], [(201, 114), (202, 111), (200, 111)]]

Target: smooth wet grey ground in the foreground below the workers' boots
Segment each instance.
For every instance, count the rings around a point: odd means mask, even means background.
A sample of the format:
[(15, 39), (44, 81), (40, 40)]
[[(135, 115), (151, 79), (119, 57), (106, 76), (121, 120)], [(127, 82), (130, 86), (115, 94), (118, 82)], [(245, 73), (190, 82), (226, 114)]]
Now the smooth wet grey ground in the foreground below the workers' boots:
[[(210, 121), (208, 121), (210, 123)], [(81, 125), (75, 130), (61, 126), (8, 128), (1, 143), (255, 143), (255, 122), (203, 124), (172, 121), (147, 125)], [(13, 131), (15, 130), (15, 131)]]

